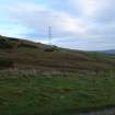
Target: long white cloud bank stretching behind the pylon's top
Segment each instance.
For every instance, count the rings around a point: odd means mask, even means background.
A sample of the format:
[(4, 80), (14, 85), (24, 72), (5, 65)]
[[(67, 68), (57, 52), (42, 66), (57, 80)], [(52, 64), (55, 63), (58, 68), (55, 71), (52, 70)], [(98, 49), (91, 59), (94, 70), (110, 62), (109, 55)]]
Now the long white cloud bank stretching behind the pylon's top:
[(32, 28), (39, 36), (47, 33), (48, 26), (53, 27), (53, 33), (56, 37), (81, 35), (87, 31), (87, 25), (81, 19), (76, 19), (67, 12), (58, 12), (35, 3), (27, 3), (26, 5), (18, 3), (10, 7), (9, 11), (11, 11), (13, 19)]

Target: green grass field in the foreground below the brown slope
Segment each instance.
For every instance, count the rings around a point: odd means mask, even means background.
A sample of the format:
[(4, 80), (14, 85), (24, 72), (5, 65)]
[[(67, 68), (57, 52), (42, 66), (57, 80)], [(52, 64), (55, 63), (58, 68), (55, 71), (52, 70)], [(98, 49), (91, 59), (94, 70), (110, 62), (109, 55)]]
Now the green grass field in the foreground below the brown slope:
[(0, 72), (0, 115), (72, 115), (115, 105), (115, 73)]

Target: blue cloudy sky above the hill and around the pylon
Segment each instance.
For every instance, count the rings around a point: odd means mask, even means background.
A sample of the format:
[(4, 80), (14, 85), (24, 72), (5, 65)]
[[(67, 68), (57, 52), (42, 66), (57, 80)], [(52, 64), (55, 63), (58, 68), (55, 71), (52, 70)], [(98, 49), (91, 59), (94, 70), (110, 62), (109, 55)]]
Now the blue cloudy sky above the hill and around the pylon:
[(0, 0), (0, 35), (81, 50), (115, 49), (115, 0)]

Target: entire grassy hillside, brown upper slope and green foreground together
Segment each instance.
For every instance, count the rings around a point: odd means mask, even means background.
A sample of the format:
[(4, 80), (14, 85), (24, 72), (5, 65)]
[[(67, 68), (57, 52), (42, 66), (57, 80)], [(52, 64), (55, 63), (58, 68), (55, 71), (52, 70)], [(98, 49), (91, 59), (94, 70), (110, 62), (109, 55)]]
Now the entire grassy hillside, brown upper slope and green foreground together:
[(114, 56), (0, 36), (0, 115), (83, 115), (111, 107)]

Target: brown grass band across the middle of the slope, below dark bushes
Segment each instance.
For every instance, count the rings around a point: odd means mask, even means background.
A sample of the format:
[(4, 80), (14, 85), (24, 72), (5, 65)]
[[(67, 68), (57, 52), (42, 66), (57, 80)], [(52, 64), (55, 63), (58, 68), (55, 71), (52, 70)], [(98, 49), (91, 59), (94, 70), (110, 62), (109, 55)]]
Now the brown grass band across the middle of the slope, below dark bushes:
[(18, 69), (42, 71), (114, 70), (115, 57), (88, 53), (44, 51), (37, 48), (0, 49), (0, 56), (13, 60)]

